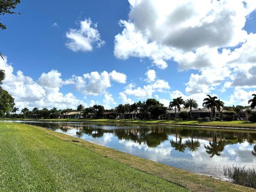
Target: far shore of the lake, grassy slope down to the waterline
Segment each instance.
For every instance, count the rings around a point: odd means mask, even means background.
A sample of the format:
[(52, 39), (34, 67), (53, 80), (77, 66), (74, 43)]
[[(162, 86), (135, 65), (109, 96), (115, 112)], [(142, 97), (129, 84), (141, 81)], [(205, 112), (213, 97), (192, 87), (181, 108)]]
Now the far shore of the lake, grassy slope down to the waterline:
[(148, 125), (172, 125), (172, 126), (188, 126), (188, 127), (205, 127), (219, 129), (235, 129), (235, 130), (256, 130), (256, 123), (250, 121), (173, 121), (173, 120), (144, 120), (144, 119), (12, 119), (2, 118), (1, 121), (74, 121), (74, 122), (94, 122), (94, 123), (129, 123), (129, 124), (148, 124)]

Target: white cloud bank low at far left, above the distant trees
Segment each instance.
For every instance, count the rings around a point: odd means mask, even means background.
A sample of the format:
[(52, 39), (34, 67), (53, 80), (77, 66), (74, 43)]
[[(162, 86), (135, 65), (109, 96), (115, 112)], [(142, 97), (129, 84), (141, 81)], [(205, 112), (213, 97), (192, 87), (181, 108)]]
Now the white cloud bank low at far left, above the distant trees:
[[(18, 71), (15, 75), (13, 67), (7, 63), (7, 59), (0, 60), (0, 68), (5, 70), (5, 79), (3, 89), (7, 90), (14, 98), (19, 108), (23, 107), (58, 107), (58, 108), (75, 108), (79, 104), (84, 104), (78, 100), (72, 93), (63, 94), (59, 92), (59, 86), (62, 85), (61, 74), (52, 70), (49, 73), (43, 73), (38, 82), (31, 77), (23, 75)], [(52, 85), (47, 81), (50, 79)]]

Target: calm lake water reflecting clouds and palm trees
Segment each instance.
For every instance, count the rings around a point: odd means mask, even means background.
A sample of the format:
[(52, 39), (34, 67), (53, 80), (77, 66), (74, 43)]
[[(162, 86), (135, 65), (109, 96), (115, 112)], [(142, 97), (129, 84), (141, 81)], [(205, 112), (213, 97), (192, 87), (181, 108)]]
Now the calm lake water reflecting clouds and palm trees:
[[(17, 122), (17, 121), (16, 121)], [(183, 170), (222, 177), (223, 165), (256, 165), (256, 132), (85, 122), (31, 122)], [(256, 147), (255, 147), (256, 148)]]

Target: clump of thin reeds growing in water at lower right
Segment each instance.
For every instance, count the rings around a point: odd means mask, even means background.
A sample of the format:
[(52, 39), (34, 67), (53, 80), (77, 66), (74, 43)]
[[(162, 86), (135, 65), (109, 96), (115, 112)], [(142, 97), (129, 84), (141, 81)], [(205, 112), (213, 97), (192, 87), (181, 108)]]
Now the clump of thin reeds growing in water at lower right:
[(254, 167), (245, 169), (245, 166), (224, 166), (223, 172), (225, 177), (235, 184), (256, 188), (256, 169)]

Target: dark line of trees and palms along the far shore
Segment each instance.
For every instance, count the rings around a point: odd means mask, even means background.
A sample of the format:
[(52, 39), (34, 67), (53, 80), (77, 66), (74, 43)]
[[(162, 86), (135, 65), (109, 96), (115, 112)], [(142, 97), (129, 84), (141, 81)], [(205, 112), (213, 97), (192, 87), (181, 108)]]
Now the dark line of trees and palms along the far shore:
[[(214, 119), (216, 117), (216, 111), (222, 114), (225, 110), (225, 115), (235, 115), (240, 116), (243, 109), (247, 109), (247, 113), (251, 113), (251, 109), (256, 106), (256, 94), (252, 95), (252, 99), (248, 101), (250, 106), (225, 106), (225, 103), (218, 99), (218, 97), (212, 97), (211, 95), (206, 95), (207, 97), (203, 100), (203, 107), (211, 109), (210, 118)], [(113, 109), (105, 109), (102, 105), (94, 105), (92, 107), (84, 107), (83, 105), (78, 105), (76, 109), (57, 109), (53, 107), (52, 109), (43, 108), (39, 110), (38, 107), (29, 110), (27, 107), (21, 109), (21, 113), (17, 114), (20, 109), (14, 106), (14, 99), (7, 92), (2, 90), (1, 101), (0, 101), (0, 114), (2, 117), (12, 117), (12, 118), (69, 118), (70, 112), (78, 112), (78, 118), (131, 118), (131, 119), (159, 119), (166, 118), (166, 111), (174, 110), (175, 118), (192, 119), (192, 110), (198, 109), (198, 103), (195, 99), (183, 100), (182, 97), (173, 99), (170, 102), (169, 107), (164, 107), (162, 103), (156, 99), (147, 99), (146, 101), (135, 102), (130, 104), (120, 104)], [(181, 112), (181, 108), (190, 109), (189, 114)], [(219, 118), (219, 117), (218, 117)]]

